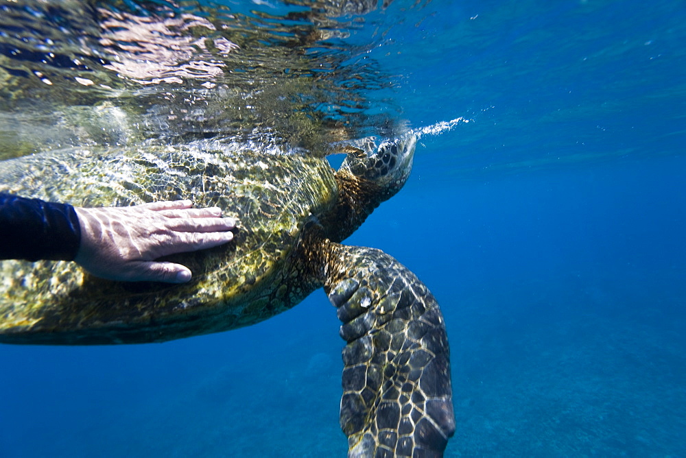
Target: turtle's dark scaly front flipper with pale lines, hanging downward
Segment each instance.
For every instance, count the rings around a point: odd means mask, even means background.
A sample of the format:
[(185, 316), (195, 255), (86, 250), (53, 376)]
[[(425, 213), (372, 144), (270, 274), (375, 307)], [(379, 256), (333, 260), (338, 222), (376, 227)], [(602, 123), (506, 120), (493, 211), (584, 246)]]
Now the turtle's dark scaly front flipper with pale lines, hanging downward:
[(348, 457), (440, 457), (455, 431), (445, 323), (407, 267), (325, 243), (325, 290), (343, 322), (340, 422)]

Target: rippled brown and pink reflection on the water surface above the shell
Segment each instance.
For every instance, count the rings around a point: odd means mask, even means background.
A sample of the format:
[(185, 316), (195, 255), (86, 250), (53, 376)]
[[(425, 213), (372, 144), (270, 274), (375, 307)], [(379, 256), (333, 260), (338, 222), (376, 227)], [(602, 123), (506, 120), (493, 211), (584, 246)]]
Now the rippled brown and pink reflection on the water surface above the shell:
[(367, 55), (381, 38), (351, 38), (386, 6), (0, 3), (1, 154), (267, 138), (320, 155), (388, 134), (401, 110), (375, 92), (394, 81)]

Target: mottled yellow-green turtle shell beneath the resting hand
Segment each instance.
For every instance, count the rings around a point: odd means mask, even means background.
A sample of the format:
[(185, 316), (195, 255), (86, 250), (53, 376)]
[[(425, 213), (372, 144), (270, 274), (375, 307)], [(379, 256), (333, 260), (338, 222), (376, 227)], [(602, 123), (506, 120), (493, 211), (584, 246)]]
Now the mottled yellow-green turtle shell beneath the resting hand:
[(289, 254), (338, 197), (322, 158), (192, 145), (9, 160), (0, 191), (85, 207), (191, 199), (239, 219), (235, 242), (169, 256), (193, 272), (185, 285), (102, 280), (66, 261), (0, 262), (0, 341), (69, 345), (165, 341), (289, 309), (321, 286), (299, 276)]

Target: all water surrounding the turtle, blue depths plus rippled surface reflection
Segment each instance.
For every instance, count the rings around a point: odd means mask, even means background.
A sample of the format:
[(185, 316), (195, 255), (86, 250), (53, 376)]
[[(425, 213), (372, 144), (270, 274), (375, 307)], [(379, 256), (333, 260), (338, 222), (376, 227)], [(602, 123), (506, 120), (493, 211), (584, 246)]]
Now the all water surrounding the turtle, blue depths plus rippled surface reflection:
[[(345, 243), (441, 306), (445, 455), (686, 457), (683, 1), (55, 4), (0, 0), (2, 158), (414, 131)], [(316, 291), (227, 333), (0, 346), (0, 457), (345, 457), (339, 326)]]

